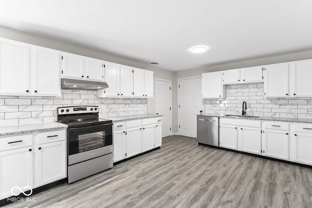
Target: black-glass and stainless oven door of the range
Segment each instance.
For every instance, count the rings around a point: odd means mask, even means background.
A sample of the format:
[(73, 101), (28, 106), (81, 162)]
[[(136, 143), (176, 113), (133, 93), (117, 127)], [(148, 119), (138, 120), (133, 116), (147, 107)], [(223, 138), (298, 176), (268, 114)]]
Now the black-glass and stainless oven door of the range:
[(112, 127), (110, 123), (68, 129), (68, 165), (112, 153)]

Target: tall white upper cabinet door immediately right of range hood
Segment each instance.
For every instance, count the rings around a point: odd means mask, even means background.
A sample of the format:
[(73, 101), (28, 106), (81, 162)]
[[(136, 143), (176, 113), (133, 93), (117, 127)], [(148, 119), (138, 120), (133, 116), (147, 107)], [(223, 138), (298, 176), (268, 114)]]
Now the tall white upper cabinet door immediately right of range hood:
[(105, 63), (104, 78), (108, 84), (108, 88), (105, 89), (105, 96), (119, 96), (119, 67), (120, 65), (115, 63)]

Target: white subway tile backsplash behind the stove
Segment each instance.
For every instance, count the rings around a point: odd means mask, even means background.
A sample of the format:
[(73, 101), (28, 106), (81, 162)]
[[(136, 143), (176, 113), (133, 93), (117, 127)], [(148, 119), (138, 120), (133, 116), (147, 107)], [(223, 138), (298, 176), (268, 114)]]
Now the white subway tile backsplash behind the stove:
[(57, 108), (73, 105), (98, 106), (101, 117), (147, 113), (146, 98), (98, 98), (95, 90), (62, 89), (61, 93), (58, 97), (0, 96), (0, 125), (54, 122)]

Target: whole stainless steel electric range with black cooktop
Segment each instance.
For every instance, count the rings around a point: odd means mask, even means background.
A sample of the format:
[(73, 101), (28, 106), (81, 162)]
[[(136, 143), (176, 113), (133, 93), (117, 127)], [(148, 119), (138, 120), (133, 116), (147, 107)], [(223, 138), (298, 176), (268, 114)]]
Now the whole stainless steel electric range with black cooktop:
[(58, 108), (67, 129), (67, 183), (113, 167), (112, 120), (98, 118), (98, 106)]

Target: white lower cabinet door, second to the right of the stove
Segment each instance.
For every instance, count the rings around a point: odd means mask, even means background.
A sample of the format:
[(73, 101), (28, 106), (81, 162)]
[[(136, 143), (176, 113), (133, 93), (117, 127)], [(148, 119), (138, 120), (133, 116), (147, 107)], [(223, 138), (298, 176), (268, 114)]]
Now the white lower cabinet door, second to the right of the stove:
[(127, 158), (142, 152), (142, 133), (140, 128), (127, 130), (126, 152)]

